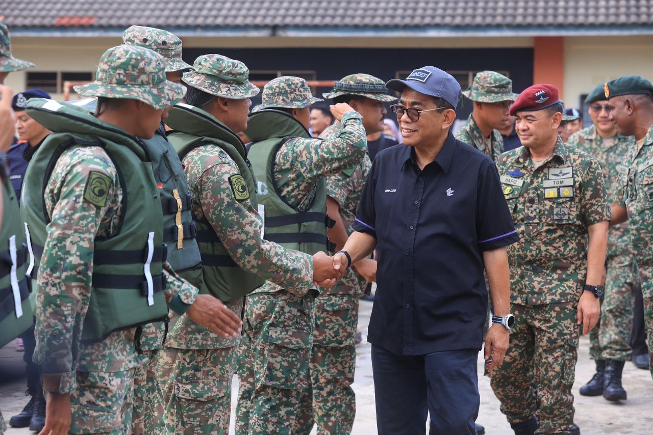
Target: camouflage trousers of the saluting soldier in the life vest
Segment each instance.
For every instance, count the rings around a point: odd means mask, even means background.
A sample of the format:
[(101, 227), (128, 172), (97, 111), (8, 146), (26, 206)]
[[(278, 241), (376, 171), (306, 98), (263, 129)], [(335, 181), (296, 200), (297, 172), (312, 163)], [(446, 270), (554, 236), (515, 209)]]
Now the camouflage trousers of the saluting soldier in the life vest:
[(311, 402), (301, 400), (310, 386), (314, 299), (285, 290), (246, 297), (236, 434), (298, 434), (312, 421)]

